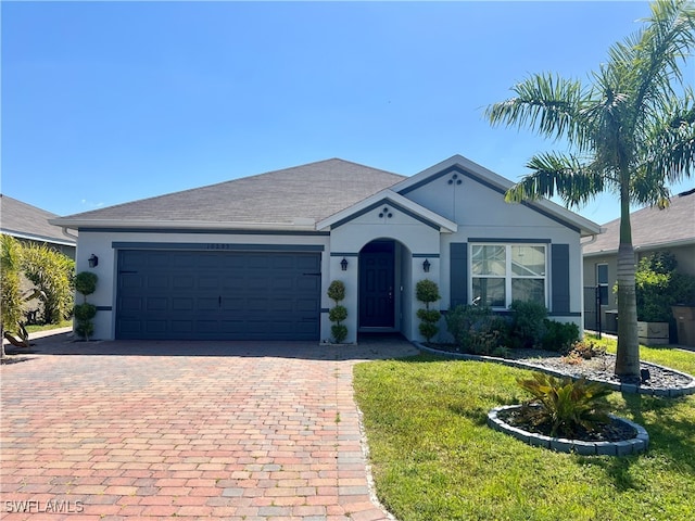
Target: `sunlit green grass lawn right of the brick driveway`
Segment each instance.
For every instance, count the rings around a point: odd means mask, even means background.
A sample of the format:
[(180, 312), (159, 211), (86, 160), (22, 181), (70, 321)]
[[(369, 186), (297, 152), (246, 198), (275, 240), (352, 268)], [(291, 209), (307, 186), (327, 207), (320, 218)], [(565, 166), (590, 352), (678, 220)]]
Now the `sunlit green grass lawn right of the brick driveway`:
[[(695, 372), (695, 353), (642, 356)], [(615, 412), (644, 425), (650, 448), (582, 457), (486, 427), (491, 408), (527, 398), (516, 378), (529, 373), (432, 356), (355, 367), (377, 493), (400, 521), (695, 519), (695, 396), (614, 393)]]

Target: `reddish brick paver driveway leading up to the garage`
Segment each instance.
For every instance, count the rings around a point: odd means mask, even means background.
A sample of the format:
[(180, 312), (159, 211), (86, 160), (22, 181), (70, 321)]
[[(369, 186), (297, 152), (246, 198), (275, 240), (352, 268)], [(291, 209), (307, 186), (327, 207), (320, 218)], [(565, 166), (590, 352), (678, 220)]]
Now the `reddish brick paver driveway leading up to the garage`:
[(352, 368), (414, 354), (405, 341), (60, 335), (35, 351), (1, 368), (4, 520), (388, 519), (368, 487)]

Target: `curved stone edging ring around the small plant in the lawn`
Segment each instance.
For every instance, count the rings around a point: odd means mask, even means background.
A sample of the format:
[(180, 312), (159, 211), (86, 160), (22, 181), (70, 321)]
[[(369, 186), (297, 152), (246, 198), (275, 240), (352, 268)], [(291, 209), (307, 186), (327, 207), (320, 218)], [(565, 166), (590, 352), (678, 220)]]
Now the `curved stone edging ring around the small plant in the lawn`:
[(643, 453), (649, 447), (649, 434), (642, 425), (614, 415), (609, 415), (610, 418), (627, 423), (637, 432), (635, 437), (620, 442), (584, 442), (565, 437), (551, 437), (513, 427), (498, 417), (498, 412), (502, 410), (520, 407), (520, 405), (495, 407), (488, 412), (488, 424), (494, 430), (509, 434), (523, 443), (549, 448), (558, 453), (576, 453), (582, 456), (628, 456)]

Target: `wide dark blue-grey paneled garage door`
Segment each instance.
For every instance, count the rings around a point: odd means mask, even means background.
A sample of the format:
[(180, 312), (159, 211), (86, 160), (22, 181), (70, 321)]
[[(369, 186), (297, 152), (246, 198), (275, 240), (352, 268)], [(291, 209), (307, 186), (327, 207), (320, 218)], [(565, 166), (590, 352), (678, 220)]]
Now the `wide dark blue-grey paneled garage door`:
[(318, 340), (320, 254), (118, 252), (118, 339)]

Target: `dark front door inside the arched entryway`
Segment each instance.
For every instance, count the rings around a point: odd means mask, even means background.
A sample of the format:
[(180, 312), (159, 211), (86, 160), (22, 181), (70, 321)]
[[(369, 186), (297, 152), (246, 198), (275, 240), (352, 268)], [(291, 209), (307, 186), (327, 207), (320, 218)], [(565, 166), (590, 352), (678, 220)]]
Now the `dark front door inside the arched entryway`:
[(371, 242), (359, 253), (359, 327), (394, 327), (394, 243)]

